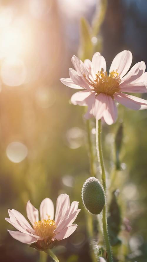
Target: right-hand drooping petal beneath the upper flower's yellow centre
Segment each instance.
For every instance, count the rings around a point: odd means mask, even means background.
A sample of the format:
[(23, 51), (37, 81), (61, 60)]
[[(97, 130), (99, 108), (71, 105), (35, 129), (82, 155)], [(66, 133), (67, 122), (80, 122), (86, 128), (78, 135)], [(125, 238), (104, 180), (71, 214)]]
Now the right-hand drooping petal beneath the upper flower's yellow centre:
[(103, 118), (108, 125), (112, 125), (117, 119), (117, 108), (115, 100), (110, 95), (106, 95), (106, 105), (107, 108), (103, 112)]

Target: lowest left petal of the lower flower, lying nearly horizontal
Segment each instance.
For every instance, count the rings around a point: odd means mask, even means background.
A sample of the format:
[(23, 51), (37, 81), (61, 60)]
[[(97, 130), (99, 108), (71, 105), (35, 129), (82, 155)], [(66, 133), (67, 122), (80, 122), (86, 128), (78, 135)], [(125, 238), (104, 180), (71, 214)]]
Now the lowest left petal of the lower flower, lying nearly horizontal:
[(36, 238), (34, 238), (30, 235), (27, 235), (25, 233), (21, 233), (19, 231), (8, 230), (8, 232), (10, 233), (10, 235), (14, 239), (20, 241), (21, 243), (31, 244), (31, 243), (34, 243), (36, 241)]

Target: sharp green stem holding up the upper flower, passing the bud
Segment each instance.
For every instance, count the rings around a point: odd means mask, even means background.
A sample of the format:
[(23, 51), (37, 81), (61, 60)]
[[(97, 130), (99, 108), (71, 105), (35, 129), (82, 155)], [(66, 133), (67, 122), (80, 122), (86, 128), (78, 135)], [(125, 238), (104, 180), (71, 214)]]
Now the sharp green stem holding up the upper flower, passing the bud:
[[(104, 162), (103, 162), (103, 151), (102, 151), (102, 144), (101, 144), (101, 119), (96, 121), (96, 150), (97, 150), (98, 162), (101, 167), (102, 184), (103, 184), (103, 188), (104, 188), (105, 196), (106, 196), (106, 174), (105, 174), (105, 168), (104, 168)], [(108, 253), (108, 262), (113, 262), (109, 235), (108, 235), (106, 202), (103, 208), (102, 221), (103, 221), (103, 235), (105, 239), (106, 250)]]

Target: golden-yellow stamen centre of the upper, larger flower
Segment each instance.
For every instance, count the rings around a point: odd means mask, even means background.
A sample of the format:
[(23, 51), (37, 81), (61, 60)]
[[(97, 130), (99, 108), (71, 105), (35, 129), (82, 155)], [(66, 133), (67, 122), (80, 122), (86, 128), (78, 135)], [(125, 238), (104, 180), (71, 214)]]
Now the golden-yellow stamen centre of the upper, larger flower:
[(96, 91), (96, 94), (105, 93), (107, 95), (111, 95), (118, 92), (120, 90), (119, 84), (121, 82), (120, 77), (118, 76), (117, 71), (112, 71), (107, 74), (107, 72), (97, 72), (96, 79), (93, 83), (93, 89)]

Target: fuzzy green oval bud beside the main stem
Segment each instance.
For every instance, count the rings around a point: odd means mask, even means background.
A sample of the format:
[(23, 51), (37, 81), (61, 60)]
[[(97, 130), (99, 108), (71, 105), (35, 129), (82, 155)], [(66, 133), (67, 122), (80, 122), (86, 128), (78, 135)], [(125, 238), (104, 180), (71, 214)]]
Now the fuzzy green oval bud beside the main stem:
[(105, 205), (105, 193), (103, 186), (95, 177), (89, 177), (82, 188), (82, 200), (84, 206), (92, 214), (98, 215)]

